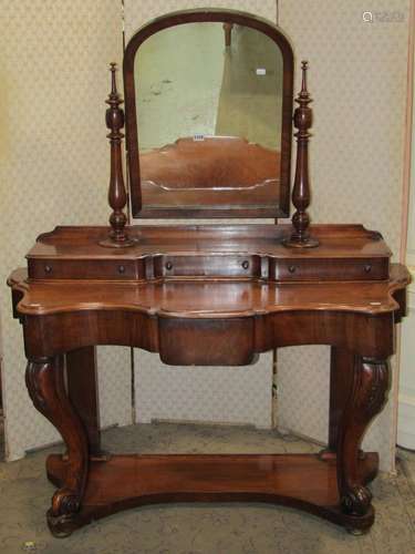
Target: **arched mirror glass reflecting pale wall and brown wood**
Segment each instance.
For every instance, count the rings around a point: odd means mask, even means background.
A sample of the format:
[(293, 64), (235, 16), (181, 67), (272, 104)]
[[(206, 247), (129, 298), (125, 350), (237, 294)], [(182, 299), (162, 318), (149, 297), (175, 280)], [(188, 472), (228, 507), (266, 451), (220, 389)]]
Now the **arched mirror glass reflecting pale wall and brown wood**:
[(283, 59), (264, 33), (186, 23), (152, 34), (134, 66), (146, 208), (279, 204)]

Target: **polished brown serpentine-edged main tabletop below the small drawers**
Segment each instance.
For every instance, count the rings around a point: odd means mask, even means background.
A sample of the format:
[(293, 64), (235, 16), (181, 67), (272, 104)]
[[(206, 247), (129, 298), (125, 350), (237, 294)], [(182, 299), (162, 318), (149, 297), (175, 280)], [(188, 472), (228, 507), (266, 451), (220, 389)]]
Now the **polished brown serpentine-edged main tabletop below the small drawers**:
[(394, 311), (394, 294), (409, 281), (407, 269), (391, 266), (390, 280), (267, 283), (257, 279), (160, 278), (155, 281), (28, 280), (15, 270), (9, 284), (22, 293), (27, 315), (74, 310), (141, 311), (147, 315), (221, 318), (290, 310), (342, 310), (371, 315)]

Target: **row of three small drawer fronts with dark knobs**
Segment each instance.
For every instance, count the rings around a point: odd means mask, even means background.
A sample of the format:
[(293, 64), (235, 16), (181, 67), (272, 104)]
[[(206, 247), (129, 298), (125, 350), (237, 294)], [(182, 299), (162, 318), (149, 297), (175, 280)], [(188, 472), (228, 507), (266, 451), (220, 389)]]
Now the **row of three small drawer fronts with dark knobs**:
[(382, 280), (387, 257), (274, 257), (263, 254), (148, 254), (117, 259), (29, 258), (32, 279), (152, 280), (168, 277), (253, 278), (270, 281)]

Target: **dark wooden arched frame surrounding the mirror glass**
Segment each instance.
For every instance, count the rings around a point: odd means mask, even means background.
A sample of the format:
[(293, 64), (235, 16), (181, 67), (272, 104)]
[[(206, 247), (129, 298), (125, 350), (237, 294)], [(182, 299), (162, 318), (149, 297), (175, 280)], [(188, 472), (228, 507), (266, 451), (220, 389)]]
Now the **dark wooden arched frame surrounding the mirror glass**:
[[(282, 53), (282, 124), (281, 124), (281, 161), (280, 161), (280, 198), (279, 205), (259, 207), (200, 207), (194, 208), (146, 208), (142, 206), (137, 111), (135, 102), (134, 60), (141, 44), (153, 34), (175, 25), (185, 23), (234, 23), (249, 27), (264, 33), (276, 42)], [(198, 9), (167, 13), (142, 27), (128, 41), (124, 52), (123, 75), (125, 94), (125, 131), (128, 183), (131, 194), (132, 217), (134, 218), (216, 218), (216, 217), (289, 217), (291, 189), (291, 150), (292, 150), (292, 109), (293, 109), (293, 50), (288, 38), (280, 29), (266, 19), (250, 13), (222, 10)]]

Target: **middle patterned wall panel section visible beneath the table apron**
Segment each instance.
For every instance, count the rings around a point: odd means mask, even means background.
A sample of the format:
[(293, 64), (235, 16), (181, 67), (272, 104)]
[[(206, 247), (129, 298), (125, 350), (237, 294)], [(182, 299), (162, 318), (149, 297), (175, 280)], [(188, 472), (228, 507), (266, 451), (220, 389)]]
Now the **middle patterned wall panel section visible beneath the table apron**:
[(136, 352), (136, 421), (272, 427), (272, 353), (243, 367), (172, 367)]

